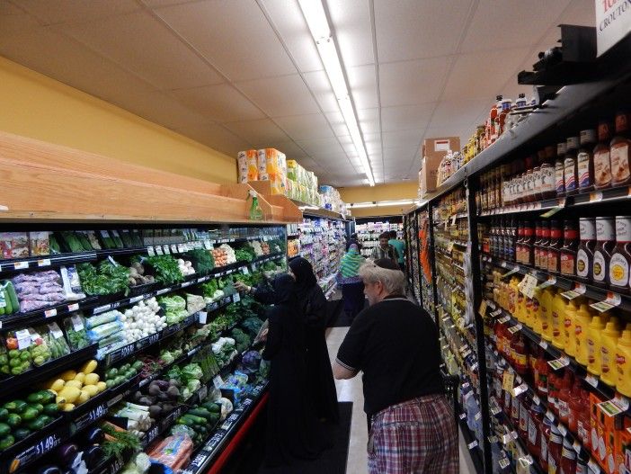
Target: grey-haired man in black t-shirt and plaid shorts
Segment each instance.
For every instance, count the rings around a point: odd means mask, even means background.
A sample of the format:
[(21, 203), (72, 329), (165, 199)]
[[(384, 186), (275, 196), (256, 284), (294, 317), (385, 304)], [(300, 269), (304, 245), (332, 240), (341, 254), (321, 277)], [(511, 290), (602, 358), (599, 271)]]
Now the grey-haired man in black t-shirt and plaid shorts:
[(404, 297), (404, 274), (384, 258), (360, 268), (370, 307), (355, 317), (333, 366), (363, 372), (369, 472), (458, 473), (458, 434), (440, 375), (438, 329)]

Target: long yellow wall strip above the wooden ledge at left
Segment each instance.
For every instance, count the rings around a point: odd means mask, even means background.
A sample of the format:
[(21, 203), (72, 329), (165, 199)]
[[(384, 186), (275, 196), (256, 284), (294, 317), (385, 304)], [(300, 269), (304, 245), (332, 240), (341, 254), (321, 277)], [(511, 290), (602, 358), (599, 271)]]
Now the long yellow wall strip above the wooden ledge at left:
[(0, 130), (214, 183), (236, 183), (235, 158), (2, 57)]

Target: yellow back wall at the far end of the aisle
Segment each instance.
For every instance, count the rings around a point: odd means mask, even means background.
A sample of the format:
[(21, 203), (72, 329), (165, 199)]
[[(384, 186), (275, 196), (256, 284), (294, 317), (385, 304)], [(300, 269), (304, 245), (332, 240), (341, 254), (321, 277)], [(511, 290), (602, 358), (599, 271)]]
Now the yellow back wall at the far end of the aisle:
[[(369, 202), (369, 201), (398, 201), (404, 199), (416, 199), (418, 197), (418, 184), (409, 183), (393, 183), (378, 184), (377, 186), (358, 186), (352, 188), (340, 188), (342, 201), (351, 202)], [(405, 206), (387, 206), (372, 207), (351, 210), (351, 215), (356, 218), (370, 216), (396, 216), (404, 213), (412, 205)]]

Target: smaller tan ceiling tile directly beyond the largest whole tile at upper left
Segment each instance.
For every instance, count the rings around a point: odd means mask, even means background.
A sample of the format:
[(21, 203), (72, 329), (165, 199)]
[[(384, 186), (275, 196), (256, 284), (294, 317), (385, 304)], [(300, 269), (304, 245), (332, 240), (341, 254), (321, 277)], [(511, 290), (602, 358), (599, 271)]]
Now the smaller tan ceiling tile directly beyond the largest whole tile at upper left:
[(227, 84), (174, 91), (182, 103), (211, 121), (253, 121), (265, 115), (242, 94)]

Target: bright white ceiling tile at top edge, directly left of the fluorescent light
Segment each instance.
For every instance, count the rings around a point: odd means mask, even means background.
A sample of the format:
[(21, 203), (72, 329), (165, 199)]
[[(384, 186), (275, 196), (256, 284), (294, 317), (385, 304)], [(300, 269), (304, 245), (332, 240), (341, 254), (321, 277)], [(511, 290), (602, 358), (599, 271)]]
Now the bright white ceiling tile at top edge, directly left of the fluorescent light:
[(301, 72), (319, 71), (322, 61), (296, 0), (262, 0), (280, 38), (289, 49)]

